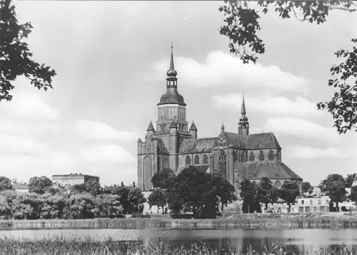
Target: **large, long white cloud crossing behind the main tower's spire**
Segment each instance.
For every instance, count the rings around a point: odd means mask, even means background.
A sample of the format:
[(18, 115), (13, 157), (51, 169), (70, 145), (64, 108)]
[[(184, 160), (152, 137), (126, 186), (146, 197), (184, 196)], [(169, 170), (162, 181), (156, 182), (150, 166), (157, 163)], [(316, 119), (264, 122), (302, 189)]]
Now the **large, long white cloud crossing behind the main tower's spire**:
[[(208, 53), (204, 63), (183, 57), (176, 57), (175, 63), (178, 78), (197, 87), (234, 85), (235, 88), (303, 91), (308, 85), (306, 78), (281, 71), (278, 66), (263, 66), (261, 63), (244, 65), (236, 56), (221, 51)], [(167, 59), (154, 63), (154, 72), (148, 73), (146, 79), (163, 80), (168, 65)]]

